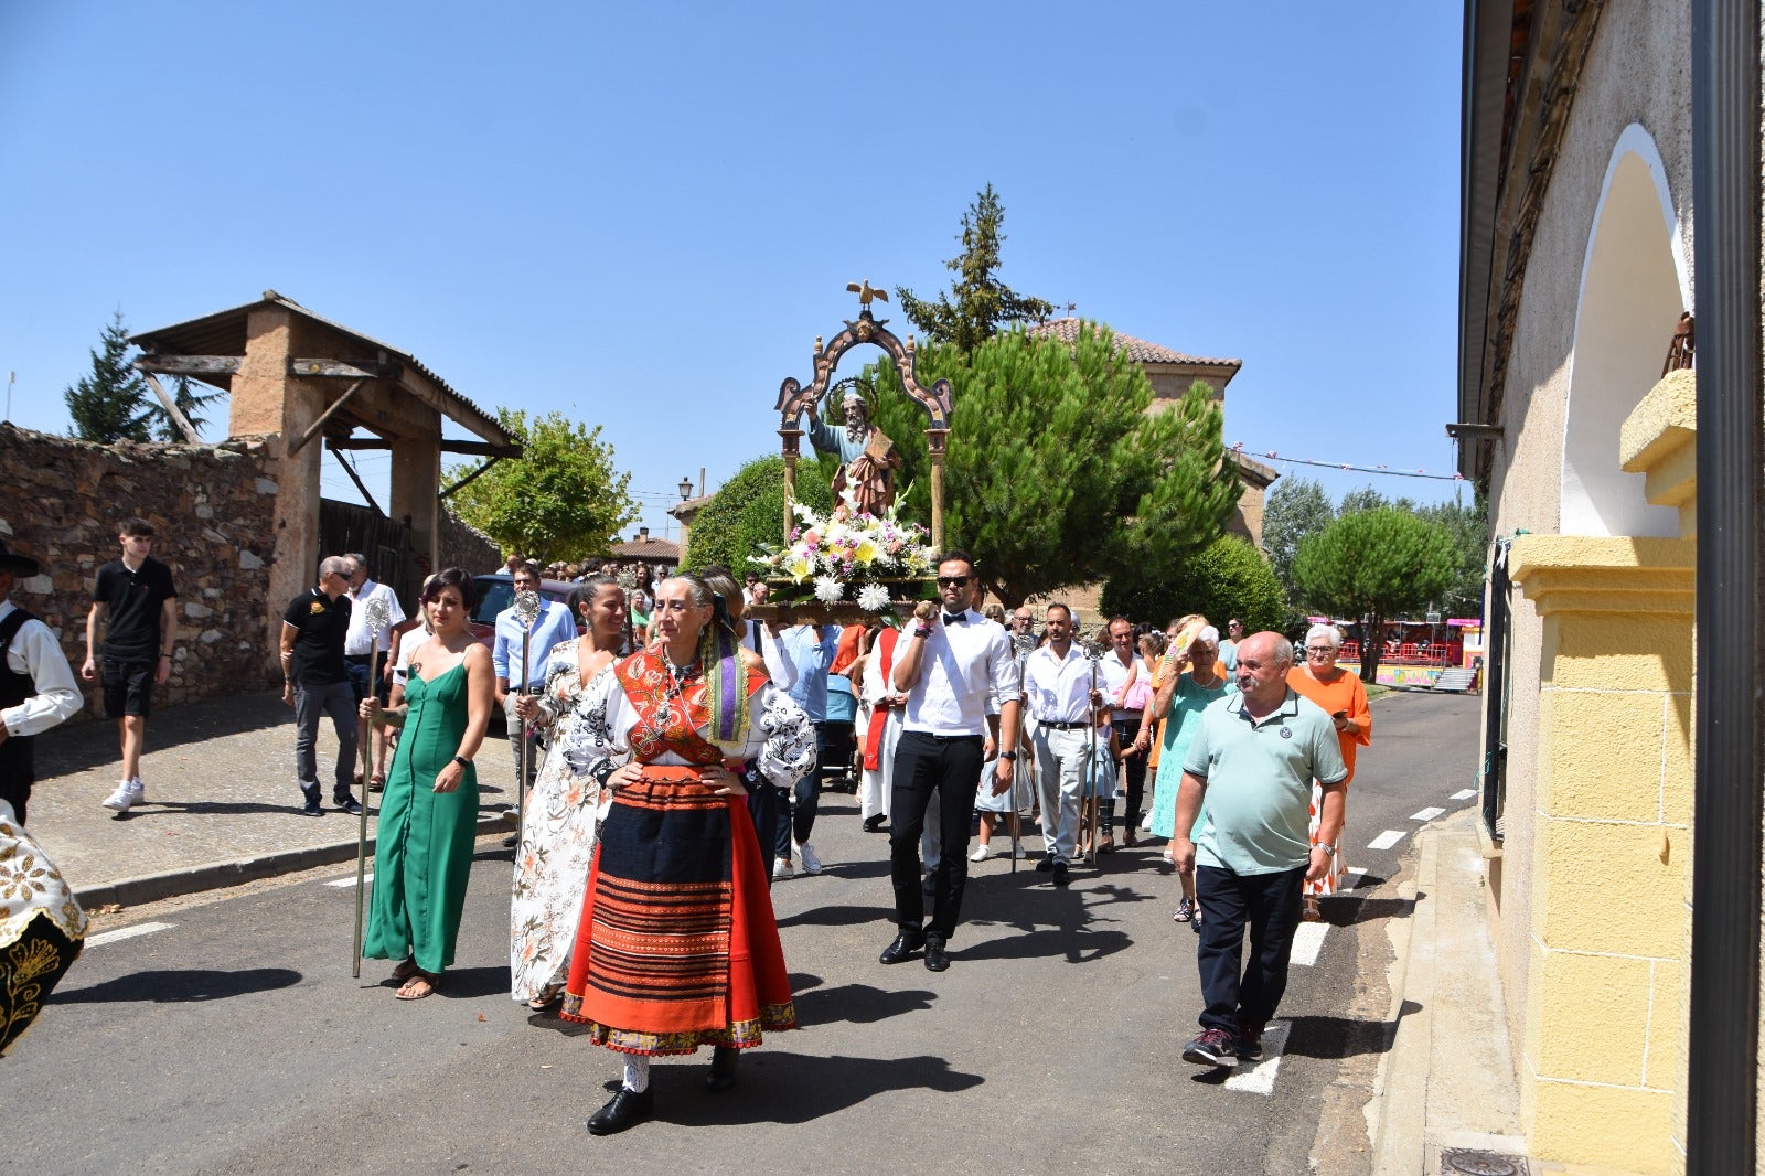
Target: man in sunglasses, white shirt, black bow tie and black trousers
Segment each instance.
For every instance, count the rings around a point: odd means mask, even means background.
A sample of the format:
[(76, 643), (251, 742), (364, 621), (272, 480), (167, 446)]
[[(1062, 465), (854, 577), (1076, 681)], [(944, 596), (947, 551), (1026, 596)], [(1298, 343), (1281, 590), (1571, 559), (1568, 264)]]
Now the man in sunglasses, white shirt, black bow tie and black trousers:
[[(974, 560), (965, 551), (946, 553), (937, 565), (943, 607), (923, 602), (897, 646), (893, 685), (907, 696), (890, 798), (890, 872), (898, 932), (882, 950), (884, 964), (898, 964), (923, 946), (930, 971), (950, 968), (944, 948), (957, 929), (967, 881), (969, 818), (985, 763), (988, 690), (1003, 699), (992, 789), (1011, 788), (1022, 682), (1004, 625), (969, 607), (973, 581)], [(934, 874), (927, 922), (920, 830), (934, 791), (939, 795), (943, 860)]]

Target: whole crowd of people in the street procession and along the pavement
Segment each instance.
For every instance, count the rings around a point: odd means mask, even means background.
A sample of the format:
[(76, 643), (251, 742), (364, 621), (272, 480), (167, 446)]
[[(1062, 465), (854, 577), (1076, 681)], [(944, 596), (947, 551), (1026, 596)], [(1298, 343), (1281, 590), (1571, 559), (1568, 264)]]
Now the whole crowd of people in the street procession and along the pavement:
[[(122, 749), (104, 803), (127, 810), (148, 803), (139, 756), (176, 588), (148, 554), (152, 528), (120, 531), (81, 673), (102, 673)], [(360, 814), (357, 788), (381, 791), (362, 954), (394, 961), (397, 999), (443, 991), (477, 835), (475, 759), (503, 712), (521, 789), (510, 994), (621, 1054), (590, 1132), (653, 1112), (651, 1058), (710, 1045), (706, 1086), (720, 1091), (740, 1051), (794, 1028), (770, 886), (822, 871), (822, 780), (847, 761), (865, 832), (888, 833), (895, 927), (881, 964), (950, 968), (971, 863), (1034, 858), (1068, 886), (1080, 863), (1151, 835), (1181, 878), (1175, 920), (1198, 934), (1202, 1012), (1183, 1056), (1260, 1059), (1294, 931), (1341, 883), (1347, 786), (1371, 738), (1366, 692), (1336, 666), (1338, 630), (1313, 627), (1297, 659), (1276, 632), (1228, 620), (1221, 636), (1200, 614), (1163, 629), (1112, 618), (1087, 641), (1059, 602), (978, 607), (962, 551), (943, 553), (937, 600), (898, 629), (750, 618), (764, 581), (720, 567), (635, 583), (593, 570), (563, 602), (538, 597), (538, 567), (510, 570), (515, 604), (485, 643), (461, 569), (431, 576), (406, 618), (362, 556), (319, 563), (281, 629), (298, 810), (325, 812), (316, 735), (330, 717), (332, 805)], [(30, 736), (78, 710), (79, 690), (42, 622), (7, 600), (35, 572), (0, 547), (0, 969), (34, 968), (46, 996), (85, 915), (53, 865), (34, 890), (7, 883), (26, 856), (48, 862), (25, 830)], [(0, 1010), (0, 1051), (37, 1003)]]

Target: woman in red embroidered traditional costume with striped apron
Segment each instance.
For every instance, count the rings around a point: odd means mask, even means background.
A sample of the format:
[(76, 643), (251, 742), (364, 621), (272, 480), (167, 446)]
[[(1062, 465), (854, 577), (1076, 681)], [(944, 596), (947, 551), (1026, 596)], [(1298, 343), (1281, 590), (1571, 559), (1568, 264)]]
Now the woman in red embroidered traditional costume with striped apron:
[(741, 659), (704, 581), (664, 581), (655, 609), (660, 639), (588, 685), (568, 750), (612, 791), (563, 1003), (625, 1054), (620, 1091), (588, 1119), (595, 1135), (650, 1116), (650, 1058), (711, 1045), (706, 1086), (720, 1091), (738, 1051), (796, 1028), (738, 772), (754, 759), (768, 780), (794, 782), (815, 763), (814, 727)]

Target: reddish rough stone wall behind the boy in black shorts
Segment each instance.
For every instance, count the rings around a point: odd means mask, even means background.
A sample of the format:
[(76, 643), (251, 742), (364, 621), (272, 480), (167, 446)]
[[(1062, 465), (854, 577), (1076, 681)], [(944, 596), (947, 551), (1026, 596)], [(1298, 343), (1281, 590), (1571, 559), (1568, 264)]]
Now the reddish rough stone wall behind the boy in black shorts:
[[(263, 618), (279, 487), (263, 438), (92, 445), (0, 424), (0, 539), (42, 563), (11, 599), (49, 625), (76, 673), (97, 569), (118, 556), (118, 524), (138, 514), (154, 524), (154, 556), (178, 586), (176, 655), (155, 705), (275, 683)], [(102, 717), (97, 683), (85, 692), (76, 720)]]

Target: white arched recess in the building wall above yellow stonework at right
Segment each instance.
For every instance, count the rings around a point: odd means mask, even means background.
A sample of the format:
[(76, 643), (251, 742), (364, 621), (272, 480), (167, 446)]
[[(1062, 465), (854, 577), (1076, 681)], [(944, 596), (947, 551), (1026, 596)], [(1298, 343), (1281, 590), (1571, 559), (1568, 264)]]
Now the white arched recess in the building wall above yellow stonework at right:
[(1689, 307), (1684, 258), (1661, 154), (1631, 124), (1606, 166), (1581, 265), (1562, 436), (1564, 535), (1679, 535), (1679, 514), (1650, 505), (1643, 477), (1619, 468), (1619, 429), (1661, 378)]

